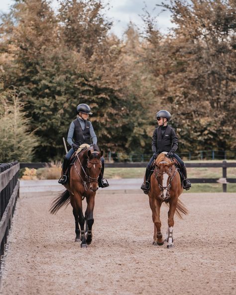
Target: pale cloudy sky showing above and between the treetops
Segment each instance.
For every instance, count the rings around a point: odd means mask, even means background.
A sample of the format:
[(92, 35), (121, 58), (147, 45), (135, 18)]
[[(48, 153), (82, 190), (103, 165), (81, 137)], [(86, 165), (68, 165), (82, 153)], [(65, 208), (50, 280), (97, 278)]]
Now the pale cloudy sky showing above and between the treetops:
[[(7, 12), (13, 2), (14, 0), (0, 0), (0, 11)], [(52, 0), (51, 2), (51, 5), (56, 8), (58, 1)], [(162, 33), (167, 33), (168, 28), (173, 26), (170, 21), (170, 13), (167, 11), (160, 13), (161, 7), (156, 6), (156, 4), (160, 4), (161, 2), (169, 2), (168, 0), (103, 0), (103, 2), (104, 4), (109, 3), (110, 9), (106, 9), (106, 15), (113, 21), (111, 31), (119, 38), (122, 38), (130, 21), (139, 28), (143, 27), (140, 15), (143, 14), (143, 8), (145, 7), (150, 15), (154, 16), (159, 14), (157, 18), (157, 28)]]

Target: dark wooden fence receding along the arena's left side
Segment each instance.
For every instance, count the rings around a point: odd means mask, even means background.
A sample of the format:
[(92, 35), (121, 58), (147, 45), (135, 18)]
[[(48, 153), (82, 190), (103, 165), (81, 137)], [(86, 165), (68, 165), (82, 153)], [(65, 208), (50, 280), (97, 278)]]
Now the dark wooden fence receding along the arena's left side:
[(0, 256), (4, 254), (4, 244), (19, 196), (19, 168), (17, 161), (0, 164)]

